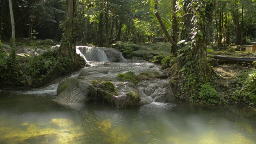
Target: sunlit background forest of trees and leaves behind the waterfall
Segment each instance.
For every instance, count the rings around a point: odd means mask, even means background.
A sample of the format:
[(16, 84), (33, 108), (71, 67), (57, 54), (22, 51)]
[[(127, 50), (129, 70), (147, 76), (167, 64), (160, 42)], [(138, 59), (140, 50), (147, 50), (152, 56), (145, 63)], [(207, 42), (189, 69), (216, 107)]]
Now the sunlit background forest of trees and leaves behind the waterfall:
[[(152, 5), (154, 1), (158, 1), (157, 11)], [(66, 14), (65, 2), (66, 0), (12, 0), (16, 37), (31, 38), (31, 33), (36, 30), (38, 39), (60, 41), (63, 33), (60, 24)], [(111, 41), (137, 43), (152, 42), (157, 36), (166, 38), (155, 16), (156, 12), (174, 40), (181, 38), (186, 30), (190, 31), (190, 27), (183, 27), (182, 19), (186, 18), (191, 23), (188, 4), (192, 0), (152, 2), (78, 0), (78, 42), (108, 46)], [(0, 22), (0, 39), (9, 39), (12, 31), (6, 0), (0, 0)], [(218, 0), (213, 12), (210, 36), (209, 42), (216, 42), (219, 46), (256, 41), (256, 1)]]

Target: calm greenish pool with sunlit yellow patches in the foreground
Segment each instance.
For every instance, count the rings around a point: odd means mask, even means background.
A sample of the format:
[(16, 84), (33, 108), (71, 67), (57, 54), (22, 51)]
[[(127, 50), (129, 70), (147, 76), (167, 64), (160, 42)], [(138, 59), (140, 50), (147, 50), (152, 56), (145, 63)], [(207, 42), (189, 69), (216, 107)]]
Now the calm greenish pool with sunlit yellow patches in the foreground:
[(0, 144), (256, 144), (256, 110), (152, 103), (62, 106), (0, 91)]

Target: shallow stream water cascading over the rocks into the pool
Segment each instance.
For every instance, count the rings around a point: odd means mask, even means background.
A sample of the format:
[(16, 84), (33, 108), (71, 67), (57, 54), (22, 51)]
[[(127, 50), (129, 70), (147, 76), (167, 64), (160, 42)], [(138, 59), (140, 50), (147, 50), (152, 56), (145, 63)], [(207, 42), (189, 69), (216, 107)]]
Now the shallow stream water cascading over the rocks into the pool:
[[(154, 64), (127, 62), (127, 60), (123, 58), (122, 53), (114, 48), (77, 46), (76, 53), (82, 56), (91, 66), (85, 67), (80, 72), (72, 74), (72, 76), (70, 76), (71, 78), (83, 77), (91, 78), (91, 80), (98, 78), (102, 80), (112, 80), (118, 87), (119, 92), (124, 94), (128, 91), (133, 91), (134, 88), (130, 87), (129, 84), (127, 85), (126, 82), (116, 82), (115, 77), (119, 73), (133, 71), (137, 75), (144, 71), (159, 71), (159, 66)], [(165, 101), (161, 96), (166, 95), (168, 89), (166, 86), (168, 87), (167, 80), (156, 79), (141, 81), (136, 88), (140, 93), (142, 104), (148, 104), (151, 102)], [(26, 94), (56, 95), (57, 87), (58, 84), (53, 84), (43, 89), (28, 91)]]

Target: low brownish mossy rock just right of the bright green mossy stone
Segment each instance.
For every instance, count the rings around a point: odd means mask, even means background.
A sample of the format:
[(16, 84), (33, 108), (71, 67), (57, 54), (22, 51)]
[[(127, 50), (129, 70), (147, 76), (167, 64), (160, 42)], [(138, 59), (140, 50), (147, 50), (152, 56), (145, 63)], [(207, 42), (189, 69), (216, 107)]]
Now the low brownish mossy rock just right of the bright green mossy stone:
[(168, 78), (168, 76), (165, 74), (159, 74), (156, 71), (148, 71), (148, 72), (142, 72), (136, 75), (135, 78), (138, 81), (141, 81), (141, 80), (148, 80), (150, 78)]

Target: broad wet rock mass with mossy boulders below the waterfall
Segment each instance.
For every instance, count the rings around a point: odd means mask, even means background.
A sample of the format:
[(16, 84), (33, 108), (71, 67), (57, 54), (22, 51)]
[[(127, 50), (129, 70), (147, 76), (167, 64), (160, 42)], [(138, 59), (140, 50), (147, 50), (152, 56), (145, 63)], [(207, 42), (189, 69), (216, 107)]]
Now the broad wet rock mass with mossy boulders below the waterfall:
[[(120, 81), (119, 73), (133, 71), (135, 76), (143, 76), (138, 84)], [(116, 93), (94, 86), (95, 80), (111, 82)], [(77, 78), (66, 78), (60, 82), (55, 102), (70, 104), (77, 102), (108, 102), (116, 107), (130, 107), (151, 102), (173, 102), (174, 94), (169, 80), (159, 66), (151, 63), (112, 63), (98, 62), (81, 70)]]

